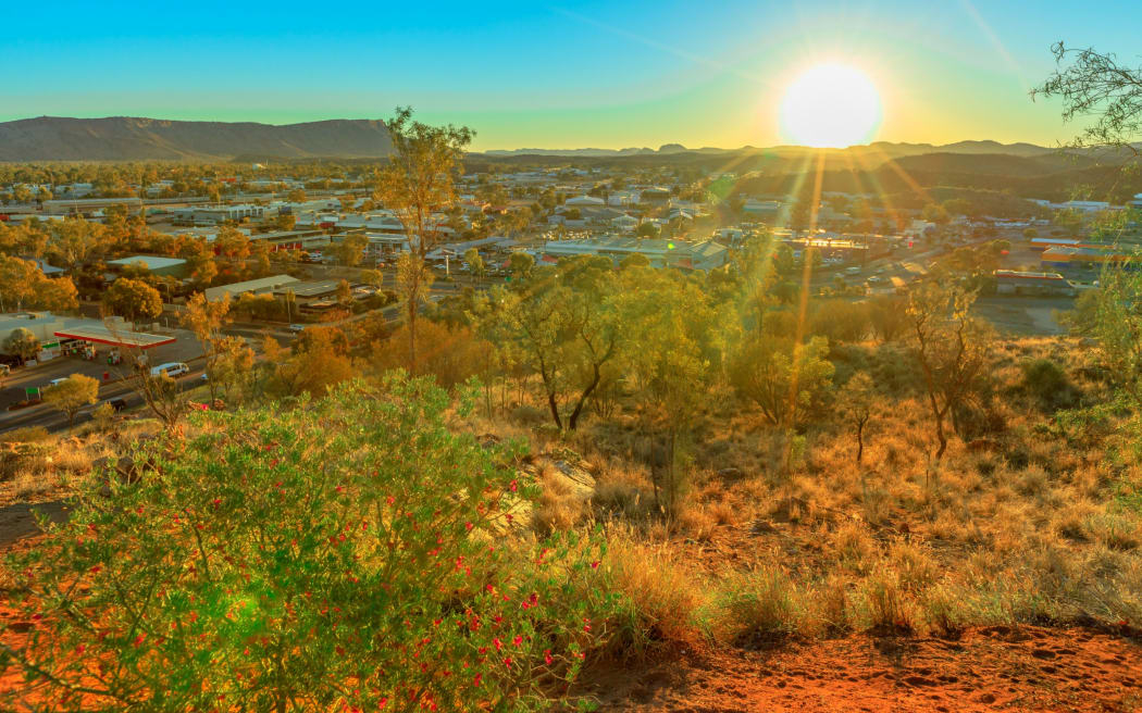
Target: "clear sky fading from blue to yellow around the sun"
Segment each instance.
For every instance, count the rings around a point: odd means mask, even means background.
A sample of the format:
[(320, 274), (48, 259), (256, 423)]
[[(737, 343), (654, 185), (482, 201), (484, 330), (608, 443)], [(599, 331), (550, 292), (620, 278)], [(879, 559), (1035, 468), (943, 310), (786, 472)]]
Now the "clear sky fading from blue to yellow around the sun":
[[(179, 3), (180, 5), (180, 3)], [(1054, 144), (1049, 46), (1142, 54), (1142, 2), (14, 3), (0, 120), (421, 118), (475, 147), (787, 143), (785, 87), (859, 66), (883, 140)]]

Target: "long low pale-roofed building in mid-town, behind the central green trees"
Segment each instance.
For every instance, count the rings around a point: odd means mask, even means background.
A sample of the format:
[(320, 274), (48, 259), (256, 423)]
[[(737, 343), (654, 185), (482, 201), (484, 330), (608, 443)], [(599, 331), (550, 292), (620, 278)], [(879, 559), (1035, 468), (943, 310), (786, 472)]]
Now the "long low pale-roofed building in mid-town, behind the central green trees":
[(609, 237), (601, 240), (552, 241), (545, 245), (541, 257), (547, 261), (577, 256), (605, 256), (616, 264), (632, 254), (641, 254), (652, 267), (674, 267), (686, 270), (711, 270), (723, 267), (729, 259), (729, 250), (714, 241), (687, 242), (683, 240), (637, 240), (633, 237)]

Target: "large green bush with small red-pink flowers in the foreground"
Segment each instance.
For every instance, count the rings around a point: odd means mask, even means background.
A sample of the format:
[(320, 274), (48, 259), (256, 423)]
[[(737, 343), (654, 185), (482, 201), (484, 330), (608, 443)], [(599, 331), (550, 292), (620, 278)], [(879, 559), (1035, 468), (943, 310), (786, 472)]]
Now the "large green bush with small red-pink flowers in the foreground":
[[(460, 415), (471, 406), (461, 398)], [(524, 711), (565, 689), (617, 599), (600, 545), (534, 542), (508, 448), (427, 380), (192, 416), (95, 479), (9, 562), (9, 664), (46, 711)], [(110, 496), (107, 488), (110, 487)], [(11, 637), (6, 637), (11, 640)]]

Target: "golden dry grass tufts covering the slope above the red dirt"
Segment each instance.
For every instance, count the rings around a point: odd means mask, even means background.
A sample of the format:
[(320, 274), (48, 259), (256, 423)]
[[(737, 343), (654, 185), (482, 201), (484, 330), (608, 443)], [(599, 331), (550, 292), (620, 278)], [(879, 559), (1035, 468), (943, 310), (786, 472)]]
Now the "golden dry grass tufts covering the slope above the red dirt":
[[(1006, 342), (996, 370), (1003, 398), (990, 406), (1002, 430), (952, 437), (940, 463), (927, 405), (907, 389), (875, 404), (863, 463), (852, 435), (823, 423), (806, 434), (791, 479), (781, 471), (782, 436), (715, 400), (694, 445), (692, 491), (668, 527), (650, 507), (645, 468), (613, 455), (635, 451), (629, 429), (608, 424), (577, 441), (612, 454), (596, 513), (630, 524), (625, 537), (670, 538), (654, 546), (692, 553), (709, 573), (714, 593), (698, 618), (722, 638), (951, 635), (1083, 617), (1142, 625), (1142, 513), (1120, 499), (1142, 488), (1142, 467), (1118, 463), (1104, 434), (1076, 447), (1051, 432), (1049, 414), (1016, 388), (1019, 364), (1045, 355), (1067, 365), (1087, 398), (1105, 396), (1104, 384), (1081, 378), (1087, 351), (1061, 340)], [(755, 521), (770, 525), (755, 530)], [(781, 568), (761, 566), (775, 561)]]

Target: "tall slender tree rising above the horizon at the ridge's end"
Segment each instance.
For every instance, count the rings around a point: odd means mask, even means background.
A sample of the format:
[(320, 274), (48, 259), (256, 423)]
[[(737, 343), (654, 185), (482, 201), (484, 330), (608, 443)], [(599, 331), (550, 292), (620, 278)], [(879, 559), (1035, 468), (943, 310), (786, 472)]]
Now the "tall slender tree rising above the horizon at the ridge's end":
[(411, 249), (402, 256), (397, 277), (405, 298), (409, 363), (415, 365), (417, 310), (432, 282), (425, 257), (435, 248), (442, 227), (433, 213), (445, 211), (456, 201), (456, 175), (474, 135), (467, 127), (413, 121), (411, 107), (397, 107), (387, 127), (393, 153), (378, 176), (376, 197), (401, 219)]

